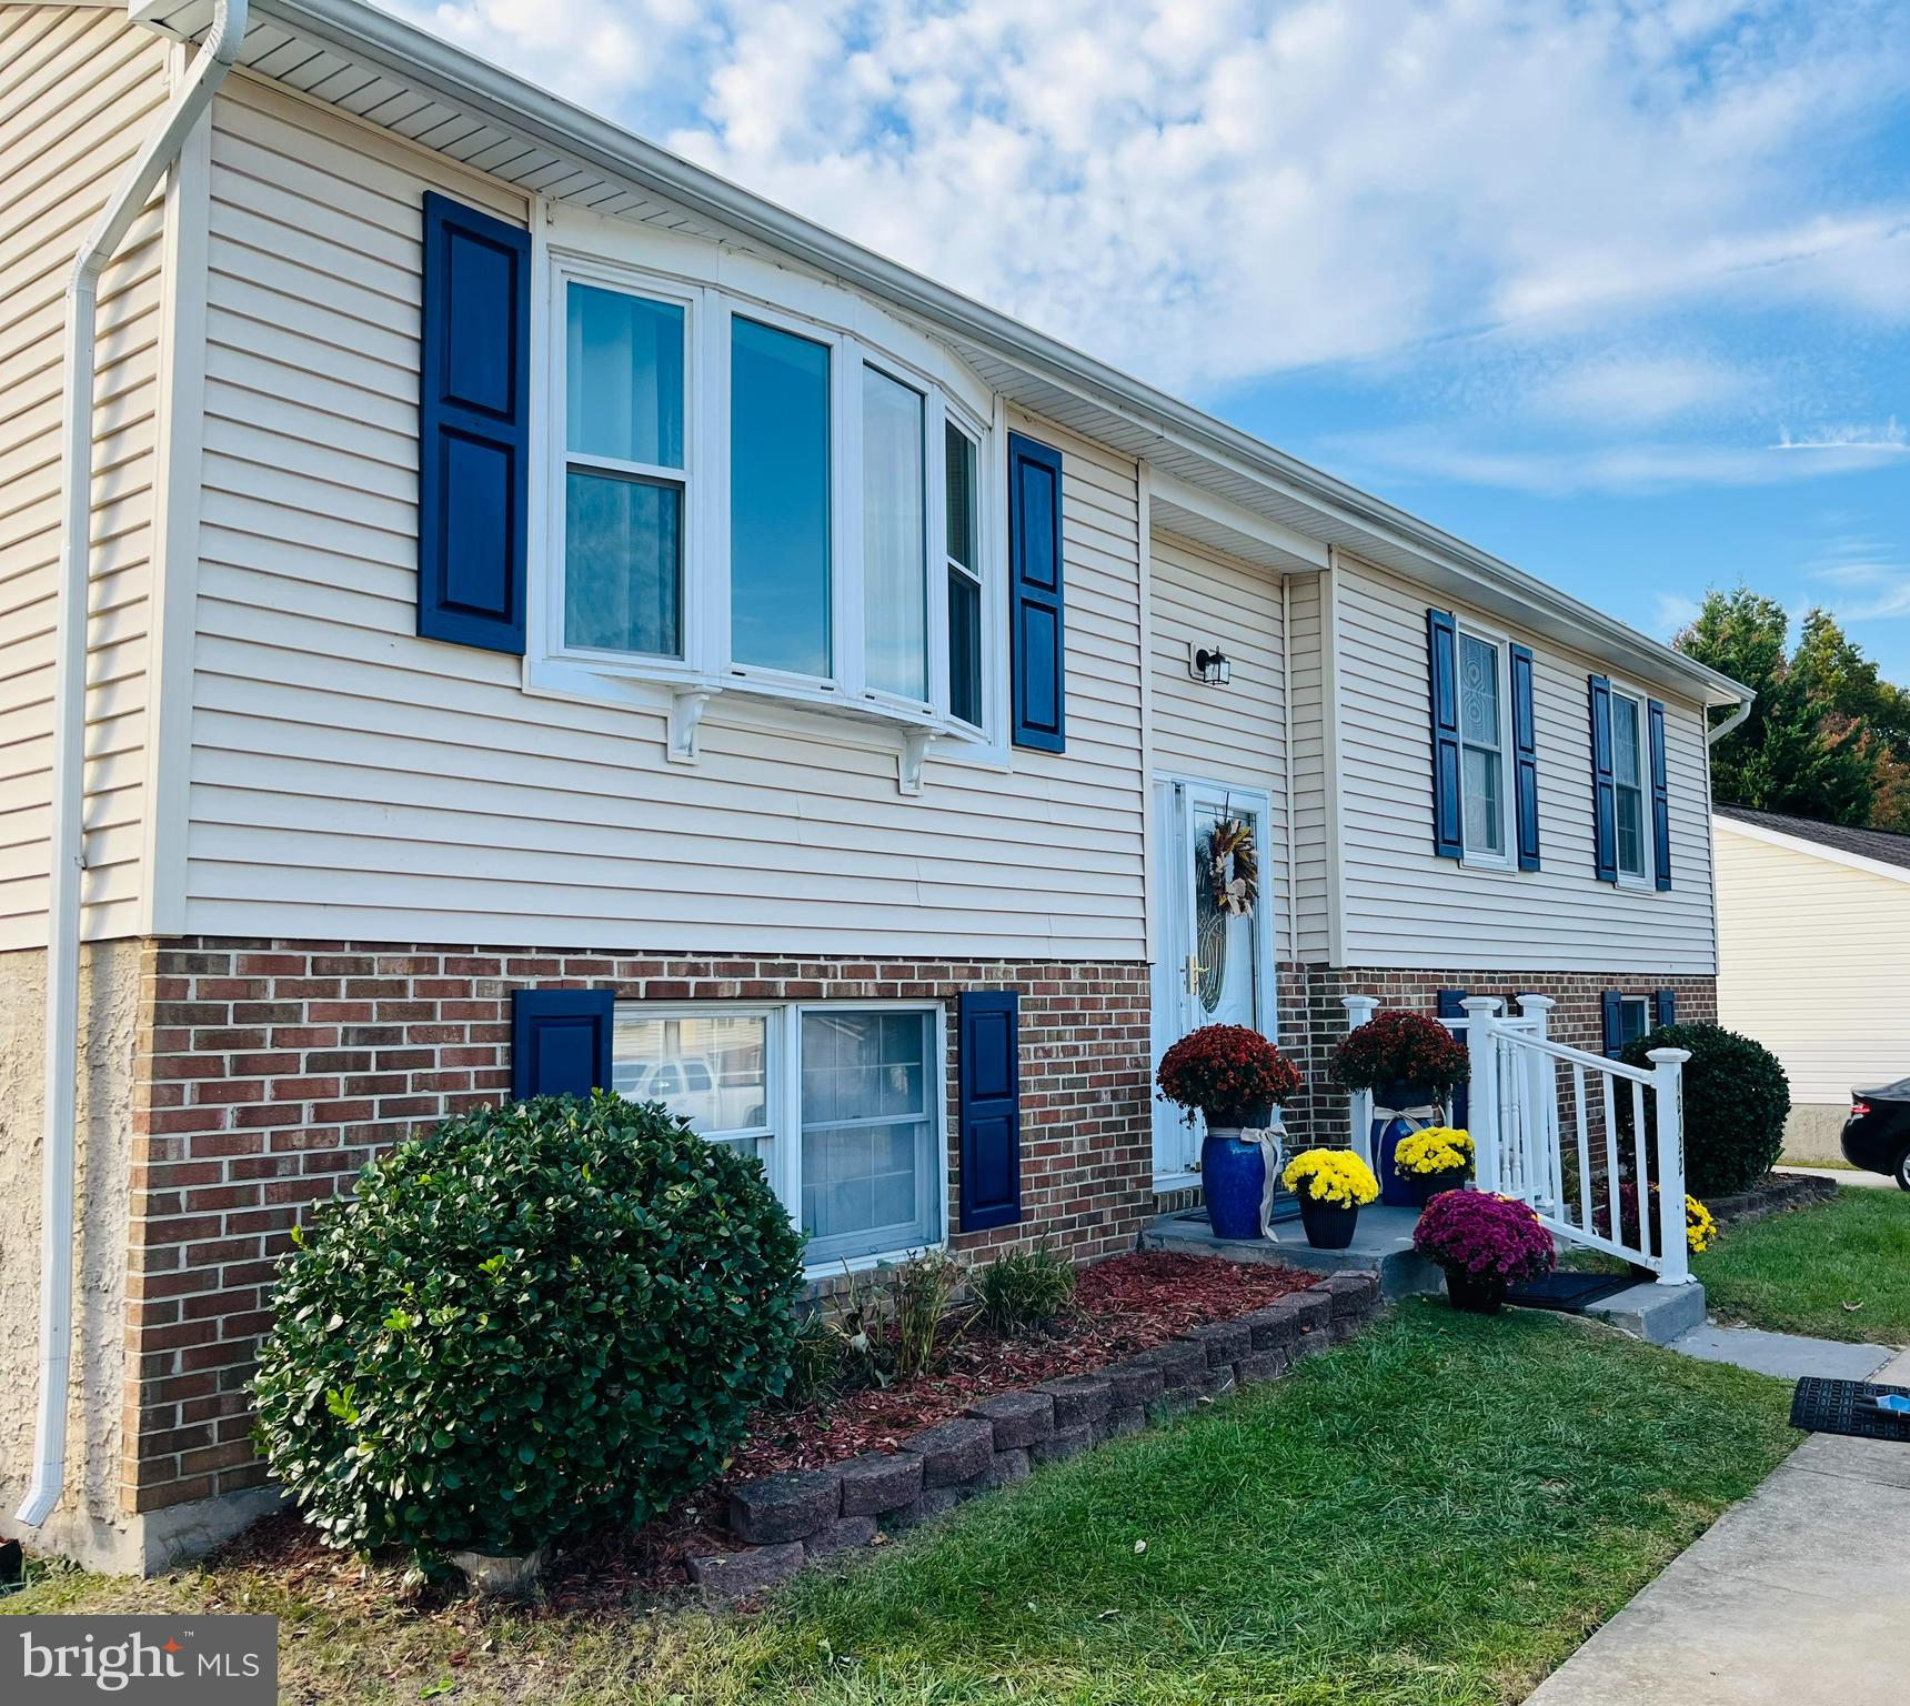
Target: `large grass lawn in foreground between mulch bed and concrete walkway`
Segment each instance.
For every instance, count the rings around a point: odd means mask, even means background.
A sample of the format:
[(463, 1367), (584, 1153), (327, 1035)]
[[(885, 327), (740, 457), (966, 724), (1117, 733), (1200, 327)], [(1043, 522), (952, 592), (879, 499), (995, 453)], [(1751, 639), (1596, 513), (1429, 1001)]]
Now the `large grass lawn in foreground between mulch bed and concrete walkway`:
[(1509, 1702), (1790, 1450), (1786, 1389), (1413, 1303), (756, 1614), (432, 1616), (258, 1568), (8, 1610), (277, 1612), (292, 1700)]

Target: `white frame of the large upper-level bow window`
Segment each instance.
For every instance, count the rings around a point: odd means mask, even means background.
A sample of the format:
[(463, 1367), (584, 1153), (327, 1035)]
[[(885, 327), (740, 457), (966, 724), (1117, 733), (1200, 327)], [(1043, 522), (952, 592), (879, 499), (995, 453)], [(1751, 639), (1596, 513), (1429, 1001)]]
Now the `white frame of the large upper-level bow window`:
[[(999, 399), (993, 418), (965, 395), (972, 382), (953, 384), (932, 371), (928, 359), (909, 359), (896, 344), (869, 336), (881, 317), (865, 304), (844, 298), (842, 325), (814, 311), (814, 298), (827, 290), (791, 294), (802, 309), (766, 298), (760, 290), (684, 277), (619, 258), (581, 252), (537, 233), (542, 250), (533, 288), (533, 434), (542, 453), (533, 457), (533, 592), (531, 634), (525, 655), (525, 688), (560, 697), (670, 709), (684, 699), (703, 703), (741, 693), (793, 713), (835, 711), (865, 724), (907, 736), (909, 743), (934, 741), (938, 757), (966, 757), (991, 766), (1008, 762), (1007, 703), (1007, 541), (1001, 506), (1001, 466), (1007, 436)], [(659, 245), (668, 248), (668, 245)], [(670, 256), (672, 260), (684, 256)], [(684, 363), (684, 562), (682, 562), (682, 659), (571, 648), (563, 642), (563, 481), (569, 462), (565, 409), (565, 288), (571, 281), (596, 288), (628, 290), (686, 308), (688, 357)], [(749, 279), (747, 283), (756, 283)], [(806, 300), (808, 298), (808, 300)], [(831, 350), (831, 676), (800, 676), (732, 657), (732, 544), (730, 544), (730, 321), (760, 321), (810, 338)], [(924, 357), (930, 350), (921, 352)], [(945, 357), (944, 357), (945, 359)], [(537, 365), (542, 367), (539, 382)], [(875, 690), (865, 680), (863, 575), (861, 575), (861, 367), (869, 365), (921, 392), (924, 460), (924, 579), (928, 600), (928, 699), (907, 699)], [(976, 728), (949, 711), (947, 669), (947, 508), (944, 422), (976, 447), (976, 564), (982, 579), (982, 716)], [(596, 458), (600, 460), (600, 458)], [(649, 472), (649, 470), (646, 470)], [(676, 478), (663, 470), (653, 478)], [(661, 690), (661, 695), (659, 692)], [(672, 711), (674, 726), (674, 711)], [(672, 757), (682, 757), (672, 751)]]

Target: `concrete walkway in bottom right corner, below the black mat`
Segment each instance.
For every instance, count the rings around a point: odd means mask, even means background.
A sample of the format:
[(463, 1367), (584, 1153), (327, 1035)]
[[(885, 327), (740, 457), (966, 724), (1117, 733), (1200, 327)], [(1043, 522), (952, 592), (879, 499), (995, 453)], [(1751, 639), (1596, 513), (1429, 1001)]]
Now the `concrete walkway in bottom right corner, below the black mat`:
[(1811, 1435), (1528, 1706), (1902, 1706), (1906, 1607), (1910, 1444)]

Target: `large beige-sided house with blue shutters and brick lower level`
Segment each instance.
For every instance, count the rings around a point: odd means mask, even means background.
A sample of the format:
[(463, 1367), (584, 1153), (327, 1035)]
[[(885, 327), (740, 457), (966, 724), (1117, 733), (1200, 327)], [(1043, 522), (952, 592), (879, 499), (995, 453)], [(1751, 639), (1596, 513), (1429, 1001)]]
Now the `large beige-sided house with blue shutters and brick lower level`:
[(250, 6), (105, 273), (74, 831), (61, 288), (212, 15), (0, 4), (8, 1509), (84, 856), (44, 1544), (258, 1505), (286, 1228), (472, 1102), (661, 1097), (819, 1274), (1091, 1259), (1198, 1183), (1150, 1093), (1194, 1024), (1274, 1035), (1343, 1141), (1345, 993), (1711, 1014), (1742, 688), (357, 0)]

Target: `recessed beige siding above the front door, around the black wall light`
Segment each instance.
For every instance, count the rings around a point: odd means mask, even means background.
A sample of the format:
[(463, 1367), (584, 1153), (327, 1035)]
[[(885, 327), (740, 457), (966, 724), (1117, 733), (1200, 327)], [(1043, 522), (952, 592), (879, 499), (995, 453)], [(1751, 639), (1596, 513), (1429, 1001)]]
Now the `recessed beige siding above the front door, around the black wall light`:
[[(1154, 655), (1154, 768), (1196, 781), (1266, 789), (1272, 806), (1261, 848), (1261, 894), (1274, 942), (1287, 953), (1287, 707), (1280, 577), (1203, 544), (1156, 533), (1150, 544)], [(1188, 672), (1188, 646), (1220, 646), (1224, 688)]]

